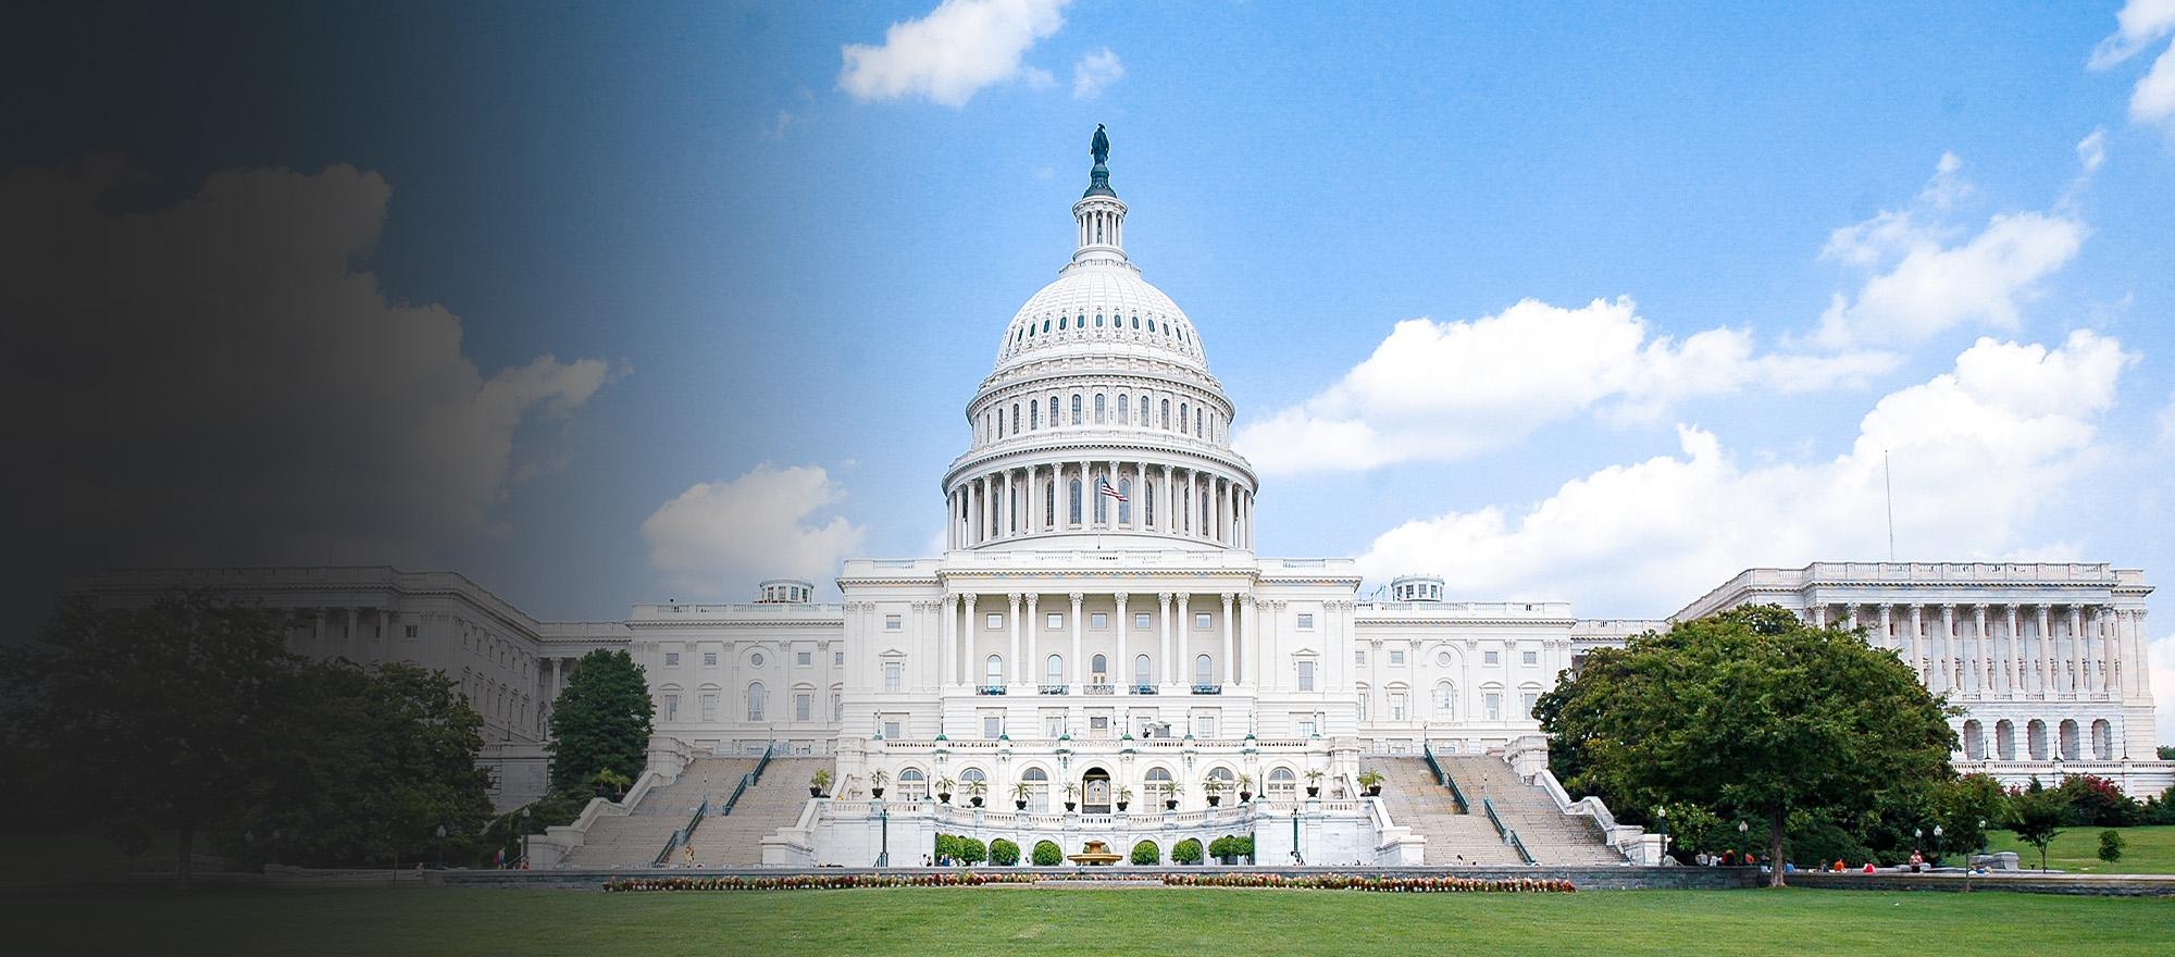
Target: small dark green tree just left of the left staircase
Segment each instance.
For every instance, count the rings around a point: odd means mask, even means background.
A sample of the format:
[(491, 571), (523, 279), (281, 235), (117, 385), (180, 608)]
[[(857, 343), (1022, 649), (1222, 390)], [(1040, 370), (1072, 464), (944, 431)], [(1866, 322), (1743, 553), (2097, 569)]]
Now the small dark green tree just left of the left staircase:
[(642, 776), (650, 746), (650, 685), (624, 650), (592, 650), (574, 663), (550, 709), (550, 787), (594, 794), (598, 772)]

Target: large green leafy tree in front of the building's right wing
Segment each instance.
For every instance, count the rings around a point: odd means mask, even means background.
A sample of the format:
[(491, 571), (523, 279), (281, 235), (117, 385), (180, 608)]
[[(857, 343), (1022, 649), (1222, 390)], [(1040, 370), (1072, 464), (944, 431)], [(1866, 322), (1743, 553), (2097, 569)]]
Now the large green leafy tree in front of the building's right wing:
[[(1873, 807), (1899, 781), (1940, 781), (1949, 711), (1894, 652), (1773, 605), (1646, 633), (1586, 657), (1544, 694), (1542, 731), (1573, 787), (1638, 807), (1696, 803), (1766, 820), (1783, 859), (1792, 809)], [(1773, 868), (1770, 885), (1783, 883)]]

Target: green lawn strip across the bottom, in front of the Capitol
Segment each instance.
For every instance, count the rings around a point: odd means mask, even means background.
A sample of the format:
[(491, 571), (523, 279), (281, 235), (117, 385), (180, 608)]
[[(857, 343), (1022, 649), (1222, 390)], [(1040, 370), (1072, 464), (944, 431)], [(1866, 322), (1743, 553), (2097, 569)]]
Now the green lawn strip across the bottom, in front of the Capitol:
[(2001, 892), (141, 890), (0, 907), (30, 955), (2175, 953), (2175, 900)]

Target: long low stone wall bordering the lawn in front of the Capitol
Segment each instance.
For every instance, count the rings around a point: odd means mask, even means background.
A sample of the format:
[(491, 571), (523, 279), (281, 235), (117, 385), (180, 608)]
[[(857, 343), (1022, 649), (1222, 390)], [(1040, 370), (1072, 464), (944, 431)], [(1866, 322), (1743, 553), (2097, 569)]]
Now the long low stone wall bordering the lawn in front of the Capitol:
[(581, 887), (600, 890), (613, 877), (787, 877), (787, 874), (957, 874), (1031, 872), (1053, 879), (1085, 874), (1107, 881), (1161, 881), (1164, 874), (1366, 874), (1366, 877), (1466, 877), (1477, 881), (1570, 881), (1579, 890), (1738, 890), (1755, 887), (1751, 868), (620, 868), (620, 870), (448, 870), (448, 887)]

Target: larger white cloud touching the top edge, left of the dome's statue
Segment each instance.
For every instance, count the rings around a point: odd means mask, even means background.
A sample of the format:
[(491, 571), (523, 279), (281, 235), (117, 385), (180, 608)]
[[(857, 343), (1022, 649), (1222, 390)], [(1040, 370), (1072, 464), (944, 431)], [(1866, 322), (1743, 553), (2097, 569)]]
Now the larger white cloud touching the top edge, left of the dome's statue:
[(883, 46), (848, 44), (837, 85), (861, 102), (924, 98), (944, 107), (966, 107), (983, 87), (1016, 78), (1046, 87), (1055, 78), (1020, 59), (1066, 24), (1066, 2), (944, 0), (922, 20), (892, 24)]

